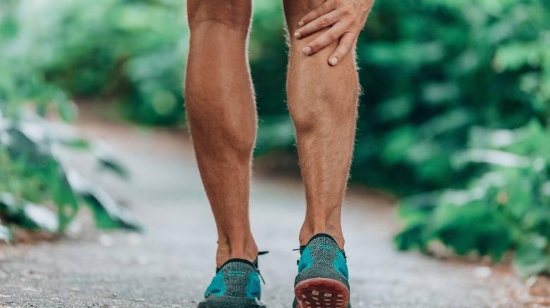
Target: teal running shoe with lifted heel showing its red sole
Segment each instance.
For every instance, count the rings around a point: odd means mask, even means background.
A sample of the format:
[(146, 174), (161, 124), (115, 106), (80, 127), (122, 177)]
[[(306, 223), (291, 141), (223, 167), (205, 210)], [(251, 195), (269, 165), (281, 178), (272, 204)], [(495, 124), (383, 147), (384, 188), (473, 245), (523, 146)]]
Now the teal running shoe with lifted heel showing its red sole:
[(351, 308), (346, 254), (336, 240), (319, 233), (300, 246), (293, 308)]

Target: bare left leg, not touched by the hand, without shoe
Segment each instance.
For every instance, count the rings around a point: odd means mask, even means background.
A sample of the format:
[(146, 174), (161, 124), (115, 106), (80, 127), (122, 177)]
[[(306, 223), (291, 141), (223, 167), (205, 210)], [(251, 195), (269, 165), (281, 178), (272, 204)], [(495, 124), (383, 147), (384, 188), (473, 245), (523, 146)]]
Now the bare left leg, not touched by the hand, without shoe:
[(253, 261), (248, 219), (257, 115), (247, 60), (250, 0), (188, 0), (191, 32), (185, 78), (193, 146), (218, 230), (216, 264)]

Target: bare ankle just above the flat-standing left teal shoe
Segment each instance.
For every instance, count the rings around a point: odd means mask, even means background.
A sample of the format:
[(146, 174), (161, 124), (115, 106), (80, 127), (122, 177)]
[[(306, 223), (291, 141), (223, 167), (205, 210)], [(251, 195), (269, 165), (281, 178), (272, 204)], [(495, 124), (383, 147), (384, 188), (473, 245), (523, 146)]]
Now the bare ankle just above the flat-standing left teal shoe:
[(218, 250), (216, 252), (216, 265), (220, 268), (228, 259), (246, 259), (254, 262), (258, 255), (258, 248), (252, 234), (245, 240), (218, 241)]

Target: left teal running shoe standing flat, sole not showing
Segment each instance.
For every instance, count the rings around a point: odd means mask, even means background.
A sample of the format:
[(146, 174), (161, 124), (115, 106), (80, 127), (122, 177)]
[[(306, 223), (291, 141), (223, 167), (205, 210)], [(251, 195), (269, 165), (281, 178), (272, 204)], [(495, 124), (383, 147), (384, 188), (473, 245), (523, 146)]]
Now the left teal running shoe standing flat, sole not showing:
[(216, 269), (198, 308), (265, 308), (259, 300), (260, 277), (257, 259), (229, 259)]

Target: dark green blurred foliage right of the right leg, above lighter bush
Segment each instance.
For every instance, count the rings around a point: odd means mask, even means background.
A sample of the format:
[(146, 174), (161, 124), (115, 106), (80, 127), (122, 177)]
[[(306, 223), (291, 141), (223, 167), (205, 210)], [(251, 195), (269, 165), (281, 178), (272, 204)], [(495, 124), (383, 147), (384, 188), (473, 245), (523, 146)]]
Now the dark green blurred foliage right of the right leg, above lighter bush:
[(448, 160), (465, 148), (468, 127), (547, 122), (550, 10), (542, 1), (376, 8), (358, 47), (369, 103), (360, 111), (355, 179), (401, 193), (459, 188), (479, 174)]

